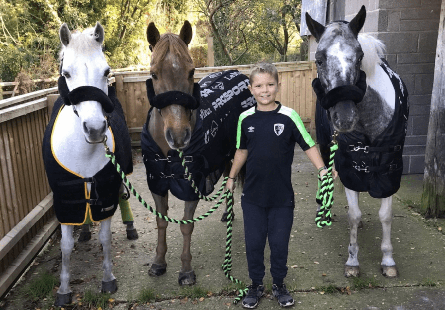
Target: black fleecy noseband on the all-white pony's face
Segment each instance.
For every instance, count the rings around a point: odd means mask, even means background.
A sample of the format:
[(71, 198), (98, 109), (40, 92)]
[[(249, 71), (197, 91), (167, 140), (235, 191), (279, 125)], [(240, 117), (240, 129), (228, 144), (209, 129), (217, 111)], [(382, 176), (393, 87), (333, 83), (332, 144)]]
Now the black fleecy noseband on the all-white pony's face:
[(108, 87), (108, 96), (102, 89), (94, 86), (80, 86), (76, 89), (69, 90), (66, 85), (66, 79), (61, 76), (58, 80), (59, 94), (63, 99), (65, 105), (78, 104), (83, 101), (97, 101), (102, 104), (102, 108), (106, 113), (111, 113), (114, 110), (114, 99), (116, 97), (116, 89)]

